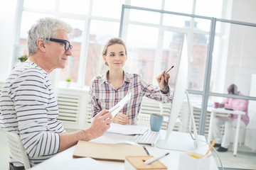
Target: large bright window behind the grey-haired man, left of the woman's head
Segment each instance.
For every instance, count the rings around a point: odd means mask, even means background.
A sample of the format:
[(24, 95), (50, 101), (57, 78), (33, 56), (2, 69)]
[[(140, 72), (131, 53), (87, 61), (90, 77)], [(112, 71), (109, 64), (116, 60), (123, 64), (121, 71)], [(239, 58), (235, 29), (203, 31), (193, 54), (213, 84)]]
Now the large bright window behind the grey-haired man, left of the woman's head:
[[(23, 3), (22, 3), (23, 2)], [(124, 1), (112, 0), (53, 0), (21, 1), (21, 23), (18, 42), (15, 42), (14, 65), (18, 57), (28, 55), (27, 32), (39, 18), (55, 17), (66, 21), (73, 27), (70, 42), (73, 45), (72, 56), (68, 57), (65, 69), (61, 69), (58, 84), (64, 85), (65, 79), (72, 79), (72, 86), (90, 86), (90, 80), (105, 72), (102, 60), (103, 45), (113, 37), (118, 37), (119, 19)]]

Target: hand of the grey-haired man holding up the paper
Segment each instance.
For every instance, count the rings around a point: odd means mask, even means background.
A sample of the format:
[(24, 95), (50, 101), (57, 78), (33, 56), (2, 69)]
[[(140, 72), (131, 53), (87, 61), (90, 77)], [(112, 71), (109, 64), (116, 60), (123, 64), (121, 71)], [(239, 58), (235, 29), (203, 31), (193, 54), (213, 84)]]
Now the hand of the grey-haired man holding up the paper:
[(95, 139), (103, 135), (110, 128), (111, 119), (112, 115), (107, 110), (102, 110), (100, 113), (97, 113), (95, 118), (92, 120), (90, 128), (88, 129), (91, 138)]

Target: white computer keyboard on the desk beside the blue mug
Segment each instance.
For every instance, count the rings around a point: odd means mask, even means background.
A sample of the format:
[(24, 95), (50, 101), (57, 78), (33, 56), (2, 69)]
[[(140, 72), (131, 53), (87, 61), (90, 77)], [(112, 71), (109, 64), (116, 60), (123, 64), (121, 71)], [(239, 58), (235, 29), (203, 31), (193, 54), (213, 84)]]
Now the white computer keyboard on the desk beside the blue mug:
[(144, 132), (144, 134), (142, 135), (134, 135), (134, 137), (132, 137), (132, 141), (137, 142), (139, 144), (149, 144), (152, 147), (154, 147), (159, 136), (160, 132), (146, 130), (146, 132)]

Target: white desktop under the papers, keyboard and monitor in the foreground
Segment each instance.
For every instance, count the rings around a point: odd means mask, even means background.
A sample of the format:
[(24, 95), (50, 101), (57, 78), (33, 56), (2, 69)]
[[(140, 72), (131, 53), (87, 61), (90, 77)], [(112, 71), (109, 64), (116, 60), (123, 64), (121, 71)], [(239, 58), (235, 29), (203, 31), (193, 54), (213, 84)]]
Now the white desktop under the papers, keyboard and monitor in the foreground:
[[(160, 138), (164, 139), (165, 136), (165, 130), (161, 130), (161, 136)], [(191, 140), (191, 137), (188, 133), (183, 132), (172, 132), (171, 137), (177, 137), (178, 139), (183, 140)], [(114, 133), (105, 133), (102, 137), (98, 137), (95, 140), (92, 140), (91, 142), (104, 142), (104, 143), (115, 143), (117, 140), (130, 140), (132, 138), (132, 135), (117, 135)], [(176, 139), (176, 138), (175, 138)], [(199, 140), (206, 141), (206, 138), (204, 136), (199, 135)], [(161, 154), (166, 153), (166, 149), (159, 149), (158, 147), (151, 147), (151, 145), (145, 145), (146, 149), (149, 151), (149, 154), (152, 156), (159, 156)], [(206, 154), (208, 150), (208, 145), (205, 142), (199, 142), (198, 147), (198, 153)], [(46, 169), (46, 166), (49, 166), (50, 164), (56, 164), (58, 162), (63, 162), (65, 160), (73, 159), (73, 152), (75, 150), (75, 146), (71, 147), (63, 152), (60, 152), (56, 154), (54, 157), (46, 160), (45, 162), (42, 162), (41, 164), (38, 164), (37, 166), (33, 167), (33, 170), (36, 169)], [(164, 157), (160, 159), (160, 161), (165, 164), (168, 169), (178, 169), (178, 160), (179, 160), (179, 154), (181, 152), (174, 151), (174, 150), (168, 150), (170, 154), (167, 157)], [(213, 159), (213, 156), (210, 156), (210, 169), (211, 170), (218, 170), (218, 167), (215, 163), (215, 160)], [(120, 170), (124, 169), (124, 162), (108, 162), (108, 161), (100, 161), (103, 164), (106, 164), (107, 166), (110, 166), (113, 170)]]

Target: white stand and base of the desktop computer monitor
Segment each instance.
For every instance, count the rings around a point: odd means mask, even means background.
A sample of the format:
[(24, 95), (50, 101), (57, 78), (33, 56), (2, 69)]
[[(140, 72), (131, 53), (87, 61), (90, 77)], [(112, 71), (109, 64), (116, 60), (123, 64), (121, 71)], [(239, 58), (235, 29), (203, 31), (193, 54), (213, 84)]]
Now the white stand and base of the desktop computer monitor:
[[(198, 148), (198, 134), (196, 130), (196, 123), (195, 119), (193, 117), (193, 112), (191, 111), (191, 103), (188, 96), (188, 91), (186, 92), (187, 100), (188, 100), (188, 110), (191, 114), (192, 119), (192, 126), (193, 126), (193, 132), (194, 137), (196, 140), (193, 140), (191, 135), (188, 133), (181, 134), (183, 137), (175, 137), (171, 138), (171, 134), (169, 135), (168, 139), (164, 140), (158, 140), (156, 143), (156, 147), (159, 147), (161, 149), (170, 149), (170, 150), (178, 150), (178, 151), (193, 151)], [(172, 133), (173, 131), (171, 131)]]

